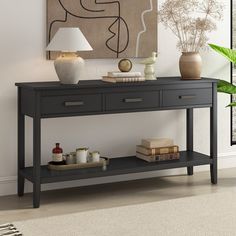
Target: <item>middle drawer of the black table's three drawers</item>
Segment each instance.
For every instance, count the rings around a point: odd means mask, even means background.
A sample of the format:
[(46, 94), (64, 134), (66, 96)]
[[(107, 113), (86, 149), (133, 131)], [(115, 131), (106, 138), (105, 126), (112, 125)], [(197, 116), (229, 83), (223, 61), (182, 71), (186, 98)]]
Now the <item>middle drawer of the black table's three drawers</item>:
[(137, 110), (160, 106), (159, 91), (130, 92), (106, 95), (106, 111)]

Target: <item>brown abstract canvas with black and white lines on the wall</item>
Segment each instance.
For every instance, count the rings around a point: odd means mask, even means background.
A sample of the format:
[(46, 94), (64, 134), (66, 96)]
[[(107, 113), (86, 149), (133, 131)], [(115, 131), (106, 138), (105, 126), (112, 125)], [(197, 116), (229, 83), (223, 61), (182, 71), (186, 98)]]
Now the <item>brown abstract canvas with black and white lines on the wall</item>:
[(148, 57), (157, 51), (157, 0), (47, 0), (47, 42), (60, 27), (81, 29), (93, 47), (83, 58)]

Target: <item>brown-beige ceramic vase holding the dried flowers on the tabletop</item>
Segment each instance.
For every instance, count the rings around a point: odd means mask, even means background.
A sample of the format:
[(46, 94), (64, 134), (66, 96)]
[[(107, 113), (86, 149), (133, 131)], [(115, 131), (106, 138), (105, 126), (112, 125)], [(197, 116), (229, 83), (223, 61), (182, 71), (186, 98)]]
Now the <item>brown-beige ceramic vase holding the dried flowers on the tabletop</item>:
[(202, 58), (198, 52), (183, 52), (179, 59), (182, 79), (201, 79)]

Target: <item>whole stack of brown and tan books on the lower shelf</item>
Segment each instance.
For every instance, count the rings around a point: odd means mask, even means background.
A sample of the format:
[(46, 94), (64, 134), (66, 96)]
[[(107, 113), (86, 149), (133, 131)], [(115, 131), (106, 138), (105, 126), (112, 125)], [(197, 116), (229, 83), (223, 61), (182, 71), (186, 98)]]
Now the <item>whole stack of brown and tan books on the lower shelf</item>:
[(136, 147), (136, 157), (148, 162), (179, 159), (179, 146), (172, 139), (143, 139)]

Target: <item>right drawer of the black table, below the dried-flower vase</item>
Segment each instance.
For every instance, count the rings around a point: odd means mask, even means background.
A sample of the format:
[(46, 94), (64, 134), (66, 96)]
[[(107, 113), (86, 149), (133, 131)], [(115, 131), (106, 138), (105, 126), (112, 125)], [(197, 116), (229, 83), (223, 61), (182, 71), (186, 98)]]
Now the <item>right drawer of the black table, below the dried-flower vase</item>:
[(212, 88), (163, 90), (163, 106), (188, 106), (212, 103)]

